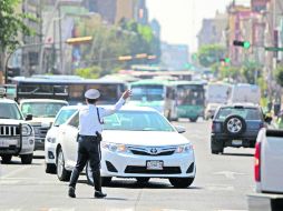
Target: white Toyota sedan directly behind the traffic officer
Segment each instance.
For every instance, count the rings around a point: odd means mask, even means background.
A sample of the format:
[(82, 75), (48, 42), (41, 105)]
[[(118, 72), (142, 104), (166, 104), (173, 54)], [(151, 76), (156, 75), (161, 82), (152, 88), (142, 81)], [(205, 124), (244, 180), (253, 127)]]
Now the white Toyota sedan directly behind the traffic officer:
[[(192, 143), (182, 134), (185, 129), (173, 127), (150, 108), (123, 107), (104, 119), (101, 175), (104, 184), (113, 177), (169, 179), (177, 188), (189, 187), (196, 173)], [(66, 181), (76, 164), (79, 117), (74, 114), (57, 131), (57, 175)], [(92, 183), (90, 168), (86, 168)]]

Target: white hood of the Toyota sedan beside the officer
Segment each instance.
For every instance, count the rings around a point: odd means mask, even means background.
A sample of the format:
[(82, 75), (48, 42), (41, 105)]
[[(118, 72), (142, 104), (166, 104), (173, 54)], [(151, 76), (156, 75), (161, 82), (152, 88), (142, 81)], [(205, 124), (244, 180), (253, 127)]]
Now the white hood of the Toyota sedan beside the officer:
[(133, 145), (178, 145), (189, 141), (177, 132), (104, 130), (103, 140)]

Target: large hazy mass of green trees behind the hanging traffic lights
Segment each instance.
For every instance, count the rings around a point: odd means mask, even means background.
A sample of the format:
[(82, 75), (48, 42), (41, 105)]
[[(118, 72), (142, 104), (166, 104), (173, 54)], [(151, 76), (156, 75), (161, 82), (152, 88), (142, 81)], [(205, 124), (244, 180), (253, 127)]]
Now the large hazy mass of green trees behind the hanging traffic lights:
[[(160, 41), (154, 37), (150, 27), (142, 26), (133, 20), (123, 19), (118, 26), (106, 26), (99, 19), (78, 20), (76, 34), (78, 37), (92, 36), (92, 43), (81, 44), (80, 51), (84, 67), (100, 67), (99, 77), (147, 61), (144, 59), (118, 61), (120, 56), (139, 53), (155, 54), (157, 58), (160, 56)], [(87, 74), (84, 71), (80, 73)]]

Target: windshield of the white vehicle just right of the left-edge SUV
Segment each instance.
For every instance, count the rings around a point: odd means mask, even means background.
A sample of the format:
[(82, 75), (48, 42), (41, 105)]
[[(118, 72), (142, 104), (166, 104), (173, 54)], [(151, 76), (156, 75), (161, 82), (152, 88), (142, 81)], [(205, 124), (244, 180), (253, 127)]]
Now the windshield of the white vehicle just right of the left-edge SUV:
[(67, 104), (64, 102), (23, 102), (21, 111), (25, 117), (32, 114), (35, 118), (55, 118), (64, 105)]

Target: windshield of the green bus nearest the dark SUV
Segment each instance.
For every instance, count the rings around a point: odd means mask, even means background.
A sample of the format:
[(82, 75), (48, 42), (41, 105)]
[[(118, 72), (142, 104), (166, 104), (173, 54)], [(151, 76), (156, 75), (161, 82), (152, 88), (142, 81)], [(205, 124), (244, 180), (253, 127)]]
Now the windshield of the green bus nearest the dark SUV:
[(178, 104), (202, 105), (204, 103), (204, 89), (197, 86), (178, 86)]

